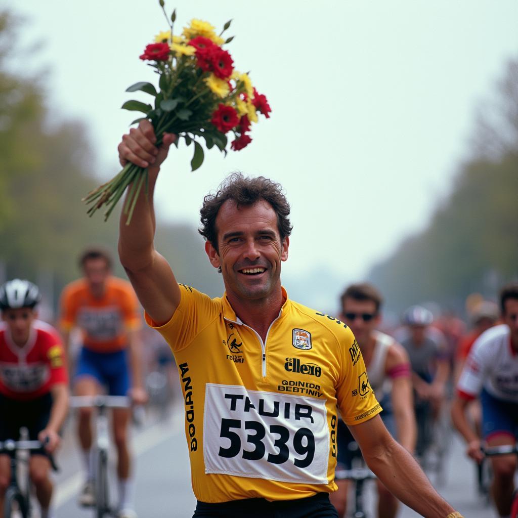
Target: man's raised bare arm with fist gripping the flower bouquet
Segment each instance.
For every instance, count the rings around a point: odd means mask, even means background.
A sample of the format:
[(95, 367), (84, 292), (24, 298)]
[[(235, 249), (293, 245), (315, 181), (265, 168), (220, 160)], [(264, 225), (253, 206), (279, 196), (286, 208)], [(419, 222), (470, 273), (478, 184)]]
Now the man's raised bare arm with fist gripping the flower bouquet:
[(133, 218), (126, 225), (121, 213), (119, 258), (140, 300), (140, 304), (157, 325), (168, 322), (180, 303), (180, 289), (171, 267), (154, 248), (155, 213), (153, 193), (160, 165), (165, 160), (175, 135), (164, 135), (163, 144), (156, 148), (153, 126), (147, 120), (122, 137), (119, 144), (121, 165), (128, 161), (148, 167), (149, 184), (140, 191)]

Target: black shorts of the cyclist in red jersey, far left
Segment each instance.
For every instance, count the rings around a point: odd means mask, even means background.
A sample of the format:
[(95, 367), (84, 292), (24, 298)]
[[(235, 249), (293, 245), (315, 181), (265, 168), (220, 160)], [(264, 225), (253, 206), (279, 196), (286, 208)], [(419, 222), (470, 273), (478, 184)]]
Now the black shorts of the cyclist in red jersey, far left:
[[(40, 396), (28, 401), (20, 401), (0, 394), (0, 441), (19, 440), (20, 428), (26, 427), (29, 439), (35, 441), (38, 434), (49, 423), (52, 408), (52, 394)], [(32, 451), (33, 455), (45, 455), (45, 451)]]

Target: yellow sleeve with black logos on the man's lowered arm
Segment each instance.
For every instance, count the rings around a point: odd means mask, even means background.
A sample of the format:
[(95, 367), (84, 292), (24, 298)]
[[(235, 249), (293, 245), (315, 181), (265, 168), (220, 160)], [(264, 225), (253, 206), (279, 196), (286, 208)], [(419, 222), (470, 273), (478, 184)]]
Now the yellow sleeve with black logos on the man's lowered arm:
[(348, 425), (368, 421), (382, 408), (372, 391), (362, 353), (349, 328), (340, 335), (339, 360), (341, 374), (337, 399), (342, 420)]

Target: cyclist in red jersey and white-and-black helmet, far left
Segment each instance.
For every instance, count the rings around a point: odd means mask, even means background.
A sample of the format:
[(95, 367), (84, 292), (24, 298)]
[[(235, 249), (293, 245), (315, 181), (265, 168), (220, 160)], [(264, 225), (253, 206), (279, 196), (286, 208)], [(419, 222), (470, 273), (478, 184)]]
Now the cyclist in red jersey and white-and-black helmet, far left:
[[(68, 376), (59, 335), (36, 319), (39, 299), (38, 287), (25, 280), (14, 279), (0, 287), (0, 441), (17, 440), (21, 427), (28, 429), (29, 439), (47, 441), (47, 451), (32, 453), (29, 469), (41, 518), (52, 518), (47, 452), (60, 443), (59, 430), (68, 409)], [(0, 455), (0, 509), (9, 478), (9, 456)]]

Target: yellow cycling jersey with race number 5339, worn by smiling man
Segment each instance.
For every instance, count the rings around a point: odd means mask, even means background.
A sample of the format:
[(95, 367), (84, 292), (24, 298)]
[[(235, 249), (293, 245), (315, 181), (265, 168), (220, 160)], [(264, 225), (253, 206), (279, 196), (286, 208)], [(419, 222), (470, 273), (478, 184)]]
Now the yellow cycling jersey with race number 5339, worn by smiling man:
[(381, 411), (351, 330), (286, 298), (266, 340), (226, 296), (180, 285), (155, 326), (174, 352), (192, 486), (203, 502), (304, 498), (336, 490), (337, 405), (350, 425)]

